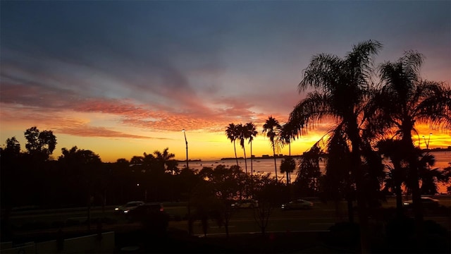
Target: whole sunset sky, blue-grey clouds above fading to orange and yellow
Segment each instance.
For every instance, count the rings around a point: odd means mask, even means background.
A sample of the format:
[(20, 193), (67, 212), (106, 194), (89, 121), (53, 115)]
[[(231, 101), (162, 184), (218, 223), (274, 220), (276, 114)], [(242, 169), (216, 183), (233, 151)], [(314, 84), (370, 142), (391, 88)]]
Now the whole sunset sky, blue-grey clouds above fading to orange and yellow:
[[(103, 162), (169, 147), (185, 159), (233, 157), (229, 123), (261, 134), (303, 94), (302, 70), (319, 53), (345, 56), (378, 40), (376, 64), (404, 51), (425, 56), (421, 76), (451, 80), (451, 1), (4, 1), (1, 5), (0, 144), (37, 126), (61, 148)], [(292, 145), (302, 154), (330, 127)], [(450, 133), (420, 126), (430, 147)], [(425, 147), (424, 140), (421, 146)], [(288, 148), (280, 153), (288, 154)], [(243, 156), (237, 144), (238, 156)], [(249, 147), (247, 147), (249, 155)]]

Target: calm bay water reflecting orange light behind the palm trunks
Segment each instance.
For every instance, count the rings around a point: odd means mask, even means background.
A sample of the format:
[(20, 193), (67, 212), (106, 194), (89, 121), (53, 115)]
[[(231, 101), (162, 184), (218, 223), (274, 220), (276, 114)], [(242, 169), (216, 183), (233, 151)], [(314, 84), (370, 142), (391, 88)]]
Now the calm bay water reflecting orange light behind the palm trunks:
[[(451, 151), (442, 151), (442, 152), (431, 152), (432, 155), (435, 157), (435, 165), (432, 167), (433, 169), (439, 168), (443, 169), (445, 167), (450, 167), (451, 162)], [(286, 178), (285, 174), (280, 173), (280, 162), (282, 161), (282, 158), (276, 158), (276, 165), (277, 165), (277, 176), (279, 179), (284, 180)], [(296, 164), (299, 165), (300, 159), (295, 158)], [(389, 159), (385, 159), (385, 162), (390, 162)], [(230, 167), (233, 165), (236, 165), (235, 159), (225, 159), (225, 160), (212, 160), (212, 161), (202, 161), (202, 162), (190, 162), (189, 166), (190, 169), (197, 169), (200, 170), (203, 167), (212, 167), (215, 168), (219, 164), (226, 165), (226, 167)], [(274, 171), (274, 159), (273, 158), (267, 158), (267, 159), (252, 159), (253, 169), (254, 173), (257, 172), (263, 172), (263, 173), (271, 173), (272, 176), (276, 175), (276, 172)], [(238, 159), (238, 165), (242, 168), (243, 171), (245, 171), (245, 159)], [(325, 162), (322, 160), (319, 164), (319, 168), (321, 172), (324, 172)], [(251, 171), (251, 160), (247, 159), (247, 172), (250, 173)], [(292, 181), (295, 181), (296, 177), (296, 171), (291, 174)], [(439, 193), (446, 193), (446, 188), (448, 185), (440, 184), (438, 186), (438, 192)]]

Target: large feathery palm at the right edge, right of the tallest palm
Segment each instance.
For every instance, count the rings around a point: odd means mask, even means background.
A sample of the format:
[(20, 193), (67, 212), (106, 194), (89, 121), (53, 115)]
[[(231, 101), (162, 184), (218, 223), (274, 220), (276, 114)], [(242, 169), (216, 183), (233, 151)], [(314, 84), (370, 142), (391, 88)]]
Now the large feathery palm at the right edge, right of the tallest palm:
[(419, 70), (424, 56), (404, 53), (395, 62), (380, 67), (381, 87), (371, 101), (372, 122), (380, 131), (395, 128), (403, 149), (408, 153), (407, 187), (412, 190), (417, 234), (421, 234), (423, 214), (419, 188), (419, 162), (412, 140), (417, 133), (415, 123), (428, 123), (433, 128), (451, 129), (451, 91), (443, 83), (421, 80)]

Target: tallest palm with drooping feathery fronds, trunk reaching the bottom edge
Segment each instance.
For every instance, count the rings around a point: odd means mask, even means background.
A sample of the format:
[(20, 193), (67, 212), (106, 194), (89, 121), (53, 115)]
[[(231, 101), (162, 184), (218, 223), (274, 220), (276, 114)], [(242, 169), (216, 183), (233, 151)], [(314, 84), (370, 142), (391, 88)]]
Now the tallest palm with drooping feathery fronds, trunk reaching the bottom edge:
[(309, 88), (321, 92), (309, 92), (307, 97), (297, 104), (290, 113), (290, 120), (299, 126), (304, 124), (315, 127), (321, 120), (335, 120), (343, 125), (344, 133), (350, 142), (352, 174), (356, 181), (357, 206), (361, 232), (361, 248), (368, 249), (368, 217), (364, 196), (364, 173), (361, 170), (361, 131), (362, 109), (369, 95), (371, 63), (373, 56), (382, 45), (377, 41), (366, 41), (355, 45), (344, 59), (330, 54), (318, 54), (311, 59), (304, 71), (304, 77), (298, 85), (299, 92)]

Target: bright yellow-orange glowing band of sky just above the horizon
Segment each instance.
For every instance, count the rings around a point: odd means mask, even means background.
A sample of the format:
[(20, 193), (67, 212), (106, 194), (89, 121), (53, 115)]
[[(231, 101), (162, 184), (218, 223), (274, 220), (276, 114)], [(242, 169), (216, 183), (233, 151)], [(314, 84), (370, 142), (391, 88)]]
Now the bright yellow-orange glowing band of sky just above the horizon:
[[(32, 126), (30, 126), (32, 127)], [(30, 128), (29, 127), (29, 128)], [(51, 128), (39, 128), (39, 131), (52, 131)], [(224, 131), (226, 126), (224, 126)], [(271, 148), (271, 143), (266, 138), (264, 134), (261, 133), (261, 126), (259, 128), (259, 134), (254, 138), (252, 143), (252, 154), (256, 157), (261, 157), (262, 155), (273, 155), (273, 150)], [(421, 130), (421, 135), (412, 136), (414, 139), (414, 145), (420, 145), (421, 149), (426, 148), (426, 143), (428, 142), (428, 147), (433, 148), (447, 148), (451, 146), (450, 140), (451, 136), (448, 133), (443, 133), (437, 130), (429, 130), (426, 125), (419, 128)], [(221, 133), (202, 133), (199, 131), (186, 131), (187, 141), (188, 141), (188, 159), (202, 159), (205, 160), (218, 160), (223, 157), (235, 157), (233, 150), (233, 143), (227, 139), (225, 132)], [(20, 134), (16, 134), (16, 131), (2, 131), (1, 138), (4, 139), (1, 146), (5, 145), (6, 138), (11, 138), (16, 136), (20, 143), (21, 150), (25, 151), (25, 138), (23, 133), (25, 130), (21, 131)], [(426, 133), (427, 132), (427, 133)], [(11, 135), (4, 138), (5, 133), (11, 133)], [(429, 138), (429, 133), (431, 139)], [(299, 137), (297, 140), (293, 141), (291, 144), (291, 154), (292, 155), (302, 155), (303, 152), (309, 150), (309, 148), (316, 143), (325, 132), (321, 133), (321, 130), (311, 130), (307, 135)], [(127, 159), (130, 160), (133, 156), (142, 156), (144, 152), (147, 154), (153, 153), (155, 150), (162, 151), (164, 148), (168, 147), (169, 152), (175, 155), (175, 159), (184, 161), (186, 159), (185, 150), (185, 138), (181, 131), (173, 131), (168, 133), (159, 134), (161, 137), (166, 136), (167, 138), (89, 138), (89, 137), (73, 137), (67, 134), (58, 134), (54, 131), (56, 135), (57, 145), (52, 157), (57, 159), (61, 155), (61, 148), (65, 147), (70, 149), (73, 146), (77, 146), (79, 149), (92, 150), (92, 152), (99, 155), (102, 162), (116, 162), (117, 159)], [(425, 136), (423, 138), (423, 135)], [(139, 135), (137, 135), (139, 136)], [(142, 134), (144, 136), (144, 134)], [(419, 137), (419, 139), (418, 139)], [(76, 138), (76, 140), (74, 140)], [(424, 140), (426, 138), (426, 141)], [(159, 140), (155, 143), (155, 140)], [(78, 143), (77, 143), (78, 142)], [(156, 145), (152, 145), (156, 144)], [(246, 154), (250, 157), (250, 145), (246, 143)], [(240, 146), (239, 140), (236, 143), (237, 157), (244, 157), (242, 147)], [(282, 150), (276, 152), (276, 154), (288, 155), (288, 146), (283, 147)]]

